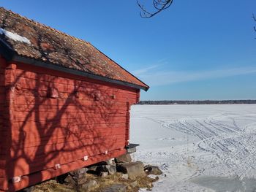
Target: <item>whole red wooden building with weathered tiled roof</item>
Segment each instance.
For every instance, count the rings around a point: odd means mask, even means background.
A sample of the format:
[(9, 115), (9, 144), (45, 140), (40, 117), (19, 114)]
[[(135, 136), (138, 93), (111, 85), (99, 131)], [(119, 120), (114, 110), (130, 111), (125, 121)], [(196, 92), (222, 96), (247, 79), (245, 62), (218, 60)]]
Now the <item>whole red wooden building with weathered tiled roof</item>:
[(138, 80), (89, 42), (0, 8), (0, 191), (126, 153)]

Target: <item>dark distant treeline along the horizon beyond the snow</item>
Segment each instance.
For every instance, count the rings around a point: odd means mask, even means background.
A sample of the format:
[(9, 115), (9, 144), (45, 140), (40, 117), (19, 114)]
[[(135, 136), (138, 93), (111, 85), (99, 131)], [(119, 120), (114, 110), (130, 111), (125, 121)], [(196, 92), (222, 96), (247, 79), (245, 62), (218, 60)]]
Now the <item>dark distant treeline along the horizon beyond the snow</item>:
[(140, 101), (138, 104), (256, 104), (256, 100)]

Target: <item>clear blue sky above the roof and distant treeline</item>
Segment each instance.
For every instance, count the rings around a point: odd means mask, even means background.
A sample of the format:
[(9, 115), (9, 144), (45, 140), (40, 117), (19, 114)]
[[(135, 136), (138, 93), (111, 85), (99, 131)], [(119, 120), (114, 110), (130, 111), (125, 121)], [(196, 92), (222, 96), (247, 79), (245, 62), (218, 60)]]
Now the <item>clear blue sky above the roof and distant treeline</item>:
[(151, 19), (135, 0), (0, 4), (91, 42), (151, 86), (141, 100), (256, 99), (255, 0), (174, 0)]

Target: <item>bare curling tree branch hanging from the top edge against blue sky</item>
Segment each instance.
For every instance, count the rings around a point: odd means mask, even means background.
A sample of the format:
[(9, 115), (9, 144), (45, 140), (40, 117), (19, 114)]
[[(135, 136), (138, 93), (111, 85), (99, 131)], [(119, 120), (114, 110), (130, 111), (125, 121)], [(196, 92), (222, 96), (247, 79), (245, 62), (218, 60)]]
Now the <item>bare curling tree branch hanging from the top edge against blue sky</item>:
[(140, 7), (140, 17), (141, 18), (152, 18), (154, 15), (157, 15), (157, 13), (162, 12), (162, 10), (167, 9), (170, 7), (171, 4), (173, 4), (173, 0), (153, 0), (153, 6), (154, 9), (156, 9), (155, 12), (148, 12), (143, 4), (140, 4), (139, 0), (137, 0), (137, 4)]

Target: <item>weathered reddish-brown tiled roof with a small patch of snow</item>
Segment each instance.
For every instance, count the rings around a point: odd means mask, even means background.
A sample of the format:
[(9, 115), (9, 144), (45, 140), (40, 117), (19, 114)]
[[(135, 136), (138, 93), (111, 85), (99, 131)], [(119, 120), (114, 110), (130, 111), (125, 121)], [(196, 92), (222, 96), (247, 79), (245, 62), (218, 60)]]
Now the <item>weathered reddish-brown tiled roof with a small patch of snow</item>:
[(50, 69), (148, 90), (148, 85), (83, 41), (0, 7), (0, 54)]

